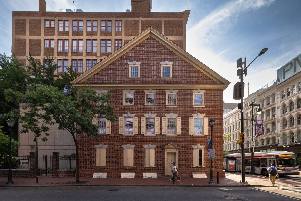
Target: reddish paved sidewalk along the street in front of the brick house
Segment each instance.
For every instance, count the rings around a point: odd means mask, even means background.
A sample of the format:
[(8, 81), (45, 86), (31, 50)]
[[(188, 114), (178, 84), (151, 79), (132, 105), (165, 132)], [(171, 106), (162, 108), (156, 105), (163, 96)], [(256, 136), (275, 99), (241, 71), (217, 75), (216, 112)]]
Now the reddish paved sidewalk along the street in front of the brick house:
[[(213, 178), (215, 184), (208, 184), (209, 178), (192, 178), (183, 177), (181, 181), (169, 181), (169, 178), (133, 178), (133, 179), (121, 179), (121, 178), (91, 178), (80, 177), (80, 183), (75, 183), (75, 177), (39, 177), (38, 184), (36, 184), (36, 178), (12, 178), (14, 184), (8, 185), (7, 177), (0, 177), (0, 186), (81, 186), (81, 185), (96, 185), (96, 186), (272, 186), (268, 177), (261, 175), (246, 174), (247, 183), (240, 183), (241, 173), (228, 173), (225, 172), (225, 177), (219, 178), (219, 184), (217, 184), (217, 178)], [(288, 180), (287, 178), (277, 178), (275, 187), (288, 187), (288, 186), (301, 186), (300, 180)]]

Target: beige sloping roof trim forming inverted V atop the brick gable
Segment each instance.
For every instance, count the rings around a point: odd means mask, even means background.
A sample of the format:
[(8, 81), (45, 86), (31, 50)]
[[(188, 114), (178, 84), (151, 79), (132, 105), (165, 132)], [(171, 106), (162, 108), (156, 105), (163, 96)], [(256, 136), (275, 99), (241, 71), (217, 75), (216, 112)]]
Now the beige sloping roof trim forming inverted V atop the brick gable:
[(177, 46), (175, 43), (170, 41), (168, 38), (154, 30), (152, 27), (148, 28), (144, 32), (140, 33), (138, 36), (136, 36), (131, 41), (127, 42), (125, 45), (117, 49), (115, 52), (104, 58), (102, 61), (98, 62), (93, 68), (89, 69), (88, 71), (85, 71), (83, 74), (76, 77), (73, 81), (71, 81), (72, 84), (78, 85), (84, 83), (86, 80), (88, 80), (90, 77), (101, 71), (103, 68), (111, 64), (113, 61), (121, 57), (122, 55), (126, 54), (129, 50), (133, 49), (135, 46), (140, 44), (142, 41), (147, 39), (148, 37), (153, 37), (158, 42), (166, 46), (169, 50), (183, 58), (185, 61), (187, 61), (189, 64), (197, 68), (199, 71), (201, 71), (203, 74), (214, 80), (217, 84), (222, 85), (222, 88), (227, 88), (227, 86), (230, 84), (228, 80), (217, 74), (215, 71), (207, 67), (205, 64), (191, 56), (188, 52)]

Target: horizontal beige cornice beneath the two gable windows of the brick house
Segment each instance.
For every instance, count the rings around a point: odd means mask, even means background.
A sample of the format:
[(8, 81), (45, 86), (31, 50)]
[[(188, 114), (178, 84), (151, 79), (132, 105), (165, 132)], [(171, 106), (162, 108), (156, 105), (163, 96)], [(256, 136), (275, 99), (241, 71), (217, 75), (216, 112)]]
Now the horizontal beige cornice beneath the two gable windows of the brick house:
[[(84, 84), (73, 84), (76, 89), (84, 89)], [(226, 89), (227, 84), (90, 84), (92, 89)]]

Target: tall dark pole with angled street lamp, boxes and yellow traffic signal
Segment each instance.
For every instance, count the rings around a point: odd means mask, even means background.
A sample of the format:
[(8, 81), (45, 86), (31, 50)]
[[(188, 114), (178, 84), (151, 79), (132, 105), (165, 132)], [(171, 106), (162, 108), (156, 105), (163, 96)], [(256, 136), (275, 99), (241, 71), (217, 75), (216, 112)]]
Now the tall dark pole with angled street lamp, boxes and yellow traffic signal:
[[(268, 48), (263, 48), (259, 54), (257, 55), (257, 57), (263, 55), (266, 51), (268, 51)], [(257, 58), (256, 57), (256, 58)], [(255, 58), (255, 59), (256, 59)], [(255, 59), (253, 59), (253, 61), (255, 61)], [(247, 68), (253, 63), (253, 61), (247, 65), (246, 67), (246, 63), (247, 63), (247, 58), (244, 58), (244, 62), (242, 62), (242, 59), (239, 58), (236, 61), (236, 67), (239, 68), (237, 70), (237, 76), (239, 76), (240, 78), (240, 84), (239, 84), (239, 88), (240, 88), (240, 121), (241, 121), (241, 133), (243, 134), (243, 139), (242, 139), (242, 143), (241, 143), (241, 168), (244, 169), (245, 167), (245, 161), (244, 161), (244, 82), (243, 82), (243, 75), (247, 75)], [(244, 68), (242, 67), (242, 64), (244, 64)], [(234, 86), (234, 90), (235, 86)], [(238, 99), (238, 100), (239, 100)], [(245, 177), (246, 172), (245, 171), (241, 171), (241, 182), (245, 183), (246, 182), (246, 177)]]

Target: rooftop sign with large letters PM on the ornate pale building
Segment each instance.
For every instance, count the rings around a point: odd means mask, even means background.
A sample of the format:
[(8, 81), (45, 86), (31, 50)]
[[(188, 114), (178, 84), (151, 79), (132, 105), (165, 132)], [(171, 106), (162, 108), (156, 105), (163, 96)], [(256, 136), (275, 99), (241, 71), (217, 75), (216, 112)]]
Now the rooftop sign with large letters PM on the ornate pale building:
[(277, 85), (301, 71), (301, 54), (277, 70)]

